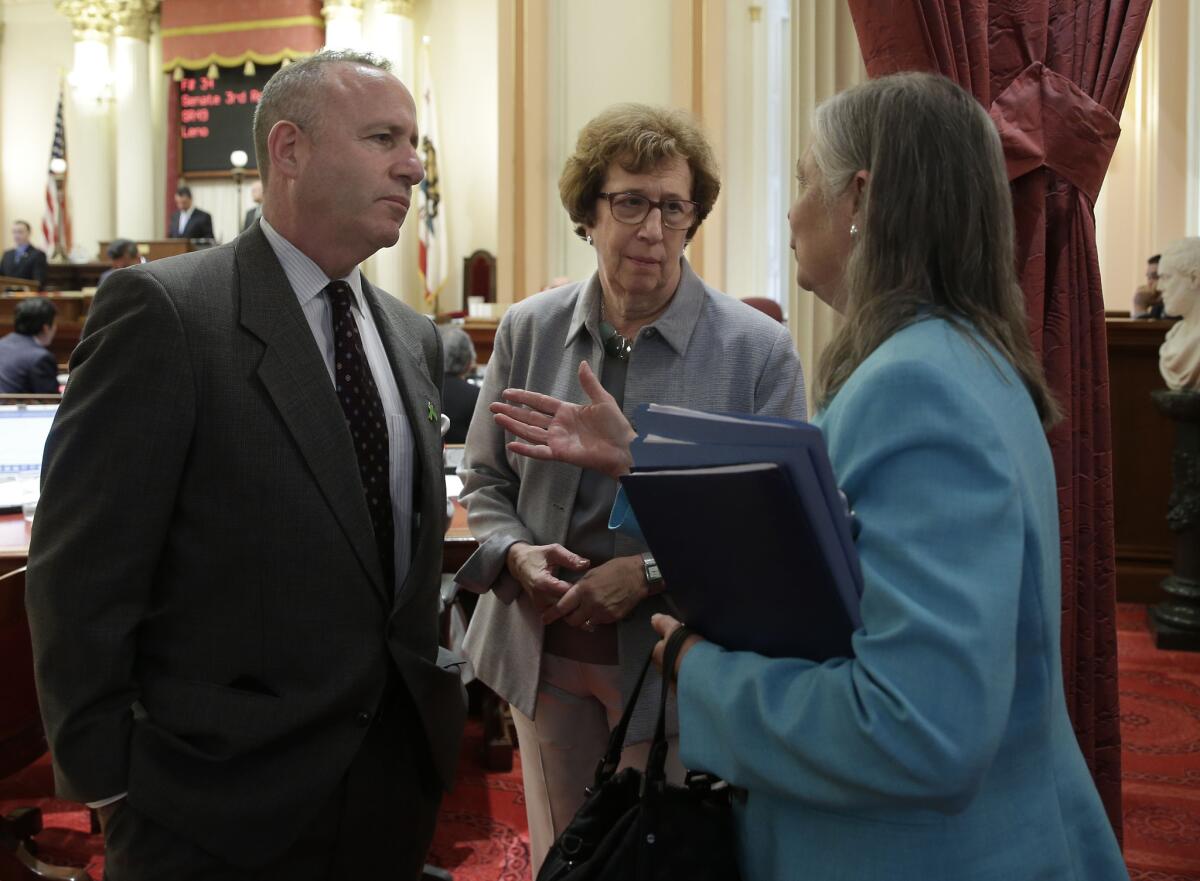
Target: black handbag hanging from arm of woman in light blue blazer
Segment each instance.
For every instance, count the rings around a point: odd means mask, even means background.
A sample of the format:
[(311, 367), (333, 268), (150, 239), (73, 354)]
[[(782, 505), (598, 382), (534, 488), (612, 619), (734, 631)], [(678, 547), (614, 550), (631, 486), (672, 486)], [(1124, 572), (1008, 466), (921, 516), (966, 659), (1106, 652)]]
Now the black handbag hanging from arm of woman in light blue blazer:
[[(667, 640), (664, 670), (674, 670), (689, 630)], [(703, 772), (688, 772), (683, 786), (666, 781), (667, 683), (646, 772), (617, 772), (625, 730), (641, 694), (650, 658), (608, 738), (587, 799), (558, 837), (538, 881), (737, 881), (737, 846), (730, 787)]]

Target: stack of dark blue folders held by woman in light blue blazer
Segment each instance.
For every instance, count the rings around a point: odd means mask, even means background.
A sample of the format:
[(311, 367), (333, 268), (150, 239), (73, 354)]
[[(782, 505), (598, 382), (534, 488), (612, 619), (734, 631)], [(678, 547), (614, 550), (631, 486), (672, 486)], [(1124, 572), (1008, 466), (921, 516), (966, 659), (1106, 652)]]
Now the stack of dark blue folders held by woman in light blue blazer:
[(851, 657), (863, 576), (821, 430), (661, 404), (634, 421), (620, 483), (680, 619), (731, 651)]

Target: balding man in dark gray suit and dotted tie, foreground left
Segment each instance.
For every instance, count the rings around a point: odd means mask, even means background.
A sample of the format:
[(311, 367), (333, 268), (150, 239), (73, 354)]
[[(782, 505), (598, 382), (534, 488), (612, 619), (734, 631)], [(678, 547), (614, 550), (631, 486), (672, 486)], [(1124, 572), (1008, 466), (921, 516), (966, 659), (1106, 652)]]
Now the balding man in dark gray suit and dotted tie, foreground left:
[(115, 272), (72, 359), (28, 575), (58, 786), (112, 881), (412, 879), (464, 717), (442, 350), (358, 264), (422, 178), (415, 107), (325, 52), (254, 143), (259, 227)]

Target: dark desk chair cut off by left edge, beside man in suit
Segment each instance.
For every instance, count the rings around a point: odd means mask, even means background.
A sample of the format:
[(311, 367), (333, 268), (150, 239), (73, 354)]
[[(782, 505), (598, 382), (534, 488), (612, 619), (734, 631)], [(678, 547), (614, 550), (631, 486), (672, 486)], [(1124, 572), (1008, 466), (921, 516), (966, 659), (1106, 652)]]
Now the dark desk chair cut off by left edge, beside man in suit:
[[(46, 733), (34, 684), (34, 649), (25, 619), (25, 569), (0, 576), (0, 778), (46, 754)], [(0, 816), (0, 877), (13, 881), (89, 881), (83, 869), (49, 865), (37, 858), (34, 835), (42, 813), (22, 808)]]

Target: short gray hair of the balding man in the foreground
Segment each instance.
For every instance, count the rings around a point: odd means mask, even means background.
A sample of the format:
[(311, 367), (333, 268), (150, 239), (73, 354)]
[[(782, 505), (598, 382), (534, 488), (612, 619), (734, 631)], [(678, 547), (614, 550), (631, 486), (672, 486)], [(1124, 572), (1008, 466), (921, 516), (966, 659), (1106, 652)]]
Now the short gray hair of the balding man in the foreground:
[(325, 49), (300, 61), (281, 67), (266, 80), (263, 96), (254, 108), (254, 154), (258, 157), (258, 175), (266, 186), (271, 157), (266, 150), (266, 136), (276, 122), (287, 120), (301, 130), (314, 134), (320, 127), (323, 102), (320, 89), (325, 83), (325, 68), (330, 65), (349, 64), (391, 72), (391, 61), (372, 52), (354, 49)]

